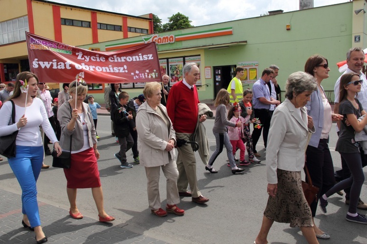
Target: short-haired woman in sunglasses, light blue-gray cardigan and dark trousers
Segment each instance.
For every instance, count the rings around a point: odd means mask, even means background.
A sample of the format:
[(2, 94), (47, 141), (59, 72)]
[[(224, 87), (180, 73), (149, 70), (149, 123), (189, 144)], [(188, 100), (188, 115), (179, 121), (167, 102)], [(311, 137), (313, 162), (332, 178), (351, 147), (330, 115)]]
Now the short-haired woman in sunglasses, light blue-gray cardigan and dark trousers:
[[(307, 113), (314, 121), (316, 132), (312, 134), (306, 150), (306, 165), (314, 186), (319, 187), (318, 197), (335, 185), (334, 165), (331, 158), (328, 141), (332, 121), (343, 118), (340, 114), (333, 114), (324, 89), (321, 86), (323, 79), (329, 77), (330, 68), (327, 59), (321, 55), (312, 55), (306, 61), (304, 71), (315, 77), (318, 89), (311, 94), (311, 101), (305, 106)], [(316, 215), (318, 199), (311, 203), (312, 221)], [(314, 231), (317, 238), (329, 239), (314, 222)]]

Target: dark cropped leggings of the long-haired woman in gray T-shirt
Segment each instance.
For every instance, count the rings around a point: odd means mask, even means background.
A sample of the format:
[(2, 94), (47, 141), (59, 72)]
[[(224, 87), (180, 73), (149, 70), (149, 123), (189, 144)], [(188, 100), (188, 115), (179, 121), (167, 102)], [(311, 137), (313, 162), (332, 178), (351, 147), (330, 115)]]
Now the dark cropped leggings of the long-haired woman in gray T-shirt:
[(340, 153), (340, 155), (342, 155), (342, 157), (345, 159), (345, 162), (348, 165), (348, 168), (351, 172), (351, 176), (334, 185), (330, 190), (328, 190), (325, 193), (325, 195), (326, 197), (330, 197), (334, 193), (350, 187), (349, 192), (350, 201), (348, 212), (354, 214), (357, 213), (358, 199), (359, 195), (361, 194), (363, 182), (365, 181), (365, 174), (363, 173), (362, 168), (361, 154)]

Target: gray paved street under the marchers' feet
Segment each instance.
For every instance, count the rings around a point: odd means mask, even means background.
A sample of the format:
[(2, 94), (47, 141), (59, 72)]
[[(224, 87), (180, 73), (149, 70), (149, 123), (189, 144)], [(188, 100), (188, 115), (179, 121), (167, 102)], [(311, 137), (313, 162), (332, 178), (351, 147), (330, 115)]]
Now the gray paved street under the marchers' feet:
[[(211, 132), (214, 120), (205, 122), (211, 152), (215, 139)], [(214, 168), (218, 174), (210, 174), (197, 156), (199, 188), (210, 200), (198, 205), (191, 198), (182, 198), (179, 205), (184, 216), (168, 214), (158, 218), (150, 213), (146, 193), (144, 168), (138, 164), (131, 169), (121, 169), (114, 154), (119, 150), (111, 136), (110, 117), (98, 117), (98, 135), (101, 139), (98, 160), (104, 191), (106, 212), (116, 220), (111, 224), (97, 221), (97, 210), (90, 189), (79, 189), (77, 203), (82, 220), (69, 217), (69, 201), (66, 179), (62, 169), (42, 170), (39, 177), (38, 200), (41, 222), (49, 243), (202, 243), (202, 244), (252, 244), (261, 225), (262, 213), (267, 201), (265, 153), (260, 139), (257, 151), (262, 155), (260, 164), (246, 167), (244, 174), (232, 175), (227, 166), (225, 151), (218, 156)], [(340, 156), (334, 152), (336, 143), (335, 124), (330, 133), (330, 147), (336, 169), (340, 169)], [(237, 152), (238, 156), (239, 152)], [(247, 153), (246, 153), (247, 156)], [(133, 162), (131, 151), (129, 162)], [(51, 165), (52, 157), (45, 163)], [(367, 169), (364, 169), (367, 178)], [(161, 175), (162, 207), (166, 204), (165, 179)], [(366, 182), (361, 199), (367, 201)], [(0, 243), (34, 243), (34, 233), (21, 225), (21, 189), (7, 160), (0, 162)], [(347, 205), (344, 198), (329, 198), (328, 213), (318, 210), (315, 221), (331, 235), (328, 244), (366, 244), (366, 225), (345, 221)], [(367, 211), (360, 210), (362, 214)], [(286, 223), (275, 223), (269, 234), (272, 244), (306, 243), (299, 228)]]

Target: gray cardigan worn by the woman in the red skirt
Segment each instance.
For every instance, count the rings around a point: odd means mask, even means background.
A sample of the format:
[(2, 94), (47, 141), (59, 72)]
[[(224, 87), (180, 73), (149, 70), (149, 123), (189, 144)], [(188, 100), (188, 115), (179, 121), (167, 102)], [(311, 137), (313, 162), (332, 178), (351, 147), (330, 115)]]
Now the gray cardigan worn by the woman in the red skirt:
[[(97, 137), (94, 129), (92, 112), (88, 104), (82, 103), (82, 107), (85, 118), (84, 120), (88, 128), (89, 145), (90, 147), (93, 147), (93, 144), (97, 143)], [(74, 130), (69, 131), (67, 128), (67, 125), (71, 120), (71, 107), (69, 105), (69, 102), (63, 103), (61, 107), (58, 109), (57, 119), (59, 120), (61, 127), (61, 138), (60, 138), (61, 148), (63, 150), (69, 151), (70, 136), (72, 135), (71, 151), (77, 151), (82, 149), (84, 145), (84, 136), (83, 136), (83, 125), (80, 118), (79, 117), (77, 118)]]

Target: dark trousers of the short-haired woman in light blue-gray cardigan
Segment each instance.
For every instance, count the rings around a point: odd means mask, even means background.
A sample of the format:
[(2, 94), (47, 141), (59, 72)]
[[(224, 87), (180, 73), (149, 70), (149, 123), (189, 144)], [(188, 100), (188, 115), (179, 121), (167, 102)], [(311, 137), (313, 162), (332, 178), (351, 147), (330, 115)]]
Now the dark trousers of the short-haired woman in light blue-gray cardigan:
[(335, 185), (333, 159), (331, 158), (327, 141), (327, 139), (320, 139), (317, 148), (308, 146), (306, 150), (306, 165), (310, 172), (312, 184), (319, 187), (320, 190), (317, 199), (310, 206), (312, 217), (316, 215), (320, 196)]

